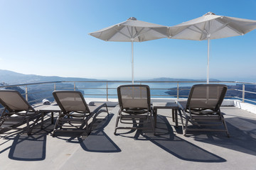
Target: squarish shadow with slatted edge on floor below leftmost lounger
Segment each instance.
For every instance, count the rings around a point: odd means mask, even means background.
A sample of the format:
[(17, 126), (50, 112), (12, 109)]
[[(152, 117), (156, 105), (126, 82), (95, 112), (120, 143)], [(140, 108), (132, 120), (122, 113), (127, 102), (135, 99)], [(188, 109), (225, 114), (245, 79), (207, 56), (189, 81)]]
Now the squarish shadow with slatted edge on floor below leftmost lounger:
[(6, 142), (13, 141), (12, 145), (0, 151), (9, 151), (9, 159), (20, 161), (41, 161), (46, 159), (46, 137), (53, 130), (53, 125), (50, 124), (50, 118), (44, 121), (43, 130), (41, 126), (36, 125), (31, 135), (27, 135), (26, 128), (22, 130), (2, 130), (1, 138), (4, 145)]

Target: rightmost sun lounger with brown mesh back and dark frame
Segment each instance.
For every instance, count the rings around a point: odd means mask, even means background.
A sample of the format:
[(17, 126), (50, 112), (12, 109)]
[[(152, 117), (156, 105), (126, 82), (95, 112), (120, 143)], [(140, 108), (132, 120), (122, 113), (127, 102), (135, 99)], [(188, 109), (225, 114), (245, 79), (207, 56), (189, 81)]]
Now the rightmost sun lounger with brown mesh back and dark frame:
[[(184, 135), (188, 131), (220, 131), (226, 132), (229, 137), (223, 113), (220, 112), (227, 89), (227, 86), (221, 84), (197, 84), (192, 86), (187, 101), (177, 101), (186, 118)], [(182, 117), (181, 122), (183, 125)], [(197, 128), (188, 128), (188, 122)], [(222, 125), (224, 129), (213, 128), (217, 125)]]

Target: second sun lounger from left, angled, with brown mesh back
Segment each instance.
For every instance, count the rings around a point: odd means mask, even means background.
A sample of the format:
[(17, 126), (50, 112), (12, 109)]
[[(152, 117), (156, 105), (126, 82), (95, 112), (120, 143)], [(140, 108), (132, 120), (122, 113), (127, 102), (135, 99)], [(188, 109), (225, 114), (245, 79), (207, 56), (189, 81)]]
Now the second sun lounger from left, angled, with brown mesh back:
[(93, 117), (94, 120), (102, 107), (106, 107), (107, 111), (106, 103), (95, 102), (94, 106), (87, 106), (80, 91), (53, 91), (53, 97), (61, 110), (55, 123), (53, 136), (57, 131), (82, 132), (88, 135), (90, 133), (88, 125), (90, 118)]

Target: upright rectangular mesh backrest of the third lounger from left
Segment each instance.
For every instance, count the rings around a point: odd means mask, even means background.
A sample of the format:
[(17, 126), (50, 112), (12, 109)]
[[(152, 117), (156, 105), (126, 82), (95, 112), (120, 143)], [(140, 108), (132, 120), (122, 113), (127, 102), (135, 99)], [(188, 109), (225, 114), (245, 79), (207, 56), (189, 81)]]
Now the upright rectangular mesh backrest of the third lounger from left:
[(150, 108), (150, 89), (146, 85), (123, 85), (117, 87), (121, 108)]

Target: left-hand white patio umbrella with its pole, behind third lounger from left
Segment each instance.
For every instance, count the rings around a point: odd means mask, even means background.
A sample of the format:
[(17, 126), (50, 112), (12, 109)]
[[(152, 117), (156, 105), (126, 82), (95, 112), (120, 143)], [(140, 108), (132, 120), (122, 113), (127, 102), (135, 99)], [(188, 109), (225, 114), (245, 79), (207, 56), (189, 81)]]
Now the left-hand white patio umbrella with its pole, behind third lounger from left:
[(132, 42), (132, 84), (134, 84), (133, 43), (166, 38), (168, 31), (166, 26), (138, 21), (136, 18), (131, 17), (127, 21), (97, 30), (89, 33), (89, 35), (105, 41)]

